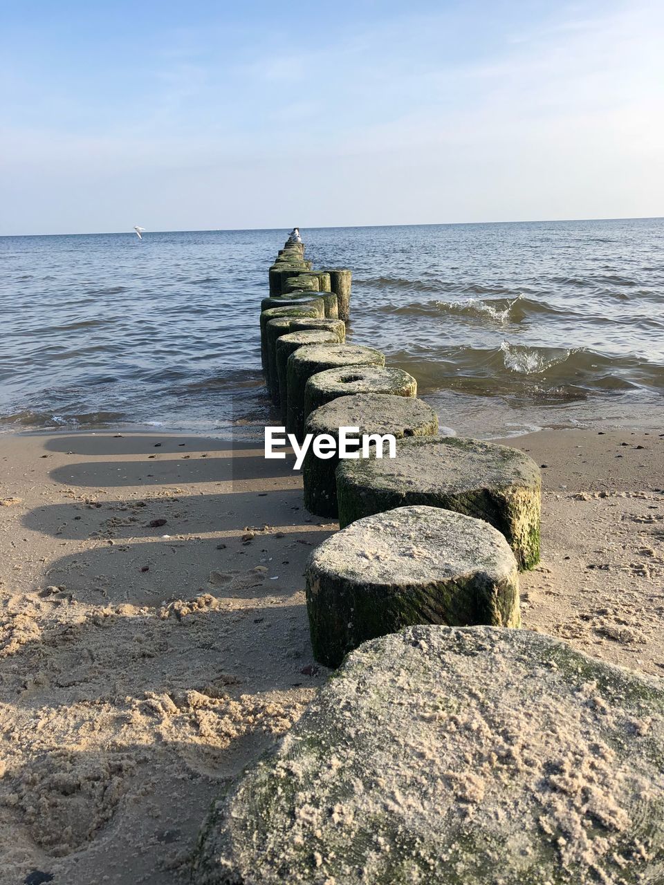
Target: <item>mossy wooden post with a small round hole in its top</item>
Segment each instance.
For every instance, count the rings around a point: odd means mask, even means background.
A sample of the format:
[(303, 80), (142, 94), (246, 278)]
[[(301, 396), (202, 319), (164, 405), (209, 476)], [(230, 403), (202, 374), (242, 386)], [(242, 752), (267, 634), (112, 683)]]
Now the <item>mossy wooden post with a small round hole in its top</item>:
[(337, 396), (353, 393), (390, 393), (417, 396), (417, 381), (403, 369), (384, 366), (353, 366), (351, 369), (327, 369), (306, 382), (305, 419), (320, 405)]

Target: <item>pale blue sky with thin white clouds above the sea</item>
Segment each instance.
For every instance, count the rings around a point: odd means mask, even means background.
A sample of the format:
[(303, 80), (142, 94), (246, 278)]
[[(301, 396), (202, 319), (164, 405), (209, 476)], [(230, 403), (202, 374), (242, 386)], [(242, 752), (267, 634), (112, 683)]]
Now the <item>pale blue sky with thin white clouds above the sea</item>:
[(0, 12), (0, 235), (664, 215), (661, 0)]

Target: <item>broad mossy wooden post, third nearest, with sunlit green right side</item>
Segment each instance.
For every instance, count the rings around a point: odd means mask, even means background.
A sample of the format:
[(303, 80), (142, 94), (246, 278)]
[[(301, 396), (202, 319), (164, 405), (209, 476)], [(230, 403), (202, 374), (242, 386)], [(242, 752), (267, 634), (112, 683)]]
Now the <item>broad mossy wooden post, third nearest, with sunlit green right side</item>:
[(486, 519), (521, 569), (539, 562), (541, 479), (518, 449), (457, 436), (400, 440), (397, 458), (343, 461), (336, 469), (339, 525), (406, 504)]

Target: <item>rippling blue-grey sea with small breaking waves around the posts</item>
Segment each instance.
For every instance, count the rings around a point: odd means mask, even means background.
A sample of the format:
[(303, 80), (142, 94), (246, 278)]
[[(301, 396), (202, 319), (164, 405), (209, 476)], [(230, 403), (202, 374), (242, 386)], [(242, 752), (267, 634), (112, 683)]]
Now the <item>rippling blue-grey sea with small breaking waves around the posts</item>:
[[(2, 427), (270, 420), (259, 299), (285, 235), (0, 238)], [(353, 270), (351, 340), (445, 427), (664, 423), (664, 219), (303, 236), (314, 266)]]

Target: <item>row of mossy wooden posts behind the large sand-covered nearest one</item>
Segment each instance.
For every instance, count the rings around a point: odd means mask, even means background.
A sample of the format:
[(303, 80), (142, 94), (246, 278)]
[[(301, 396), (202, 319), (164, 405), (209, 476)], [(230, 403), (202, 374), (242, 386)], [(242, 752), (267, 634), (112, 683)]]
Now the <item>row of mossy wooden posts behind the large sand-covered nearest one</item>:
[(340, 427), (358, 427), (397, 440), (397, 458), (306, 452), (305, 506), (341, 528), (306, 570), (315, 658), (338, 666), (359, 643), (417, 623), (519, 626), (518, 572), (539, 559), (537, 465), (520, 450), (439, 436), (413, 376), (346, 341), (350, 270), (315, 270), (304, 245), (287, 242), (269, 284), (261, 356), (286, 432), (338, 443)]

